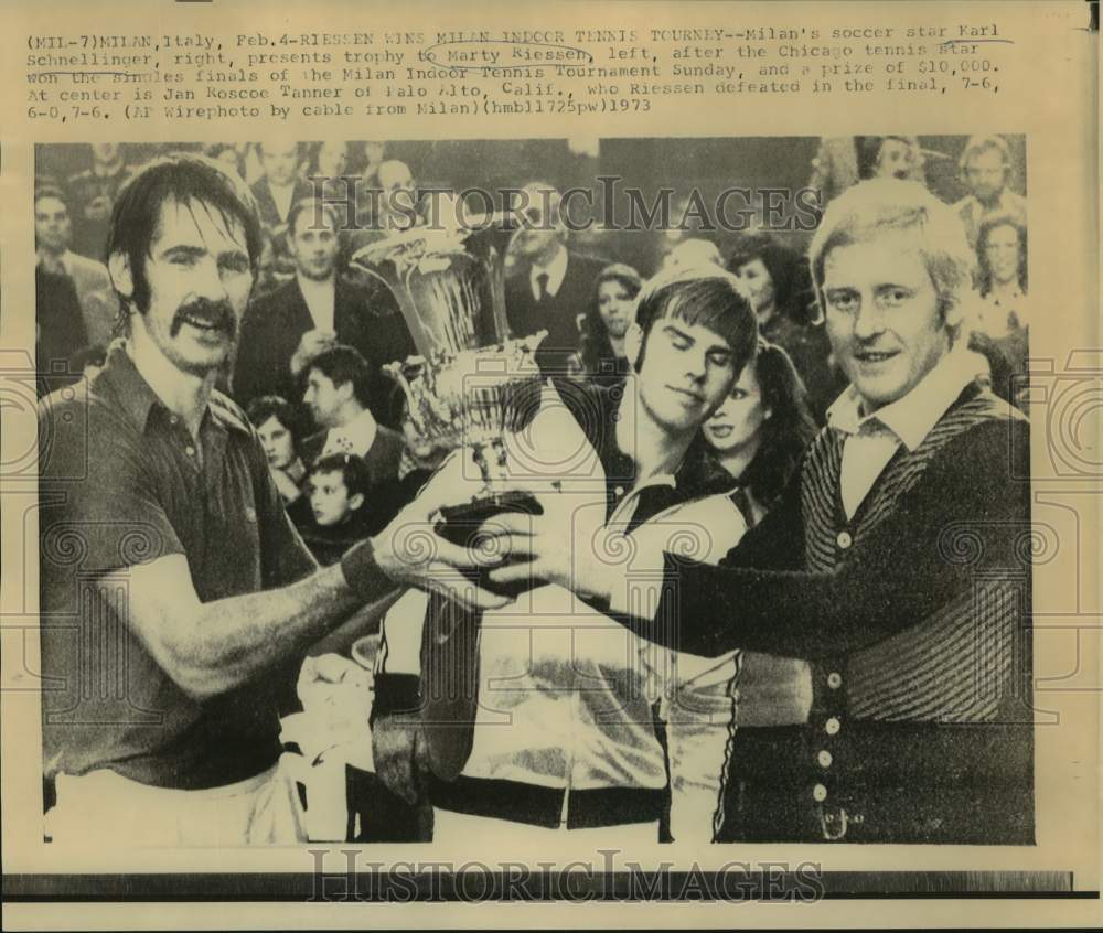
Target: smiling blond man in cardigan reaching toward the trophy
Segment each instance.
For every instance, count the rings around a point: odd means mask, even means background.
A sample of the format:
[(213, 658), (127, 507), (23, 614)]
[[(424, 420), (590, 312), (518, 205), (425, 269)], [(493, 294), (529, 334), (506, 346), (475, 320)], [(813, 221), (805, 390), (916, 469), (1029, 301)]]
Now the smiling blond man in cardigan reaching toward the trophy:
[(780, 691), (740, 687), (740, 719), (773, 718), (736, 732), (721, 838), (1029, 844), (1029, 440), (960, 340), (961, 222), (912, 182), (864, 182), (810, 258), (850, 385), (721, 566), (655, 554), (633, 582), (587, 538), (502, 516), (495, 546), (531, 561), (491, 578), (561, 582), (681, 651), (799, 662)]

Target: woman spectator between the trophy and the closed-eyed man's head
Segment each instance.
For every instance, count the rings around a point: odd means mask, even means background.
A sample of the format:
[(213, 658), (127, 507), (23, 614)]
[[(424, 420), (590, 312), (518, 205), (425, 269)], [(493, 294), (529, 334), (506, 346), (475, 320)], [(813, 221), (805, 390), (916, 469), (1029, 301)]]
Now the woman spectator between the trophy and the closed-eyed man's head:
[(630, 363), (624, 335), (635, 320), (635, 297), (643, 279), (631, 266), (615, 262), (598, 274), (596, 300), (582, 321), (582, 369), (598, 385), (624, 380)]

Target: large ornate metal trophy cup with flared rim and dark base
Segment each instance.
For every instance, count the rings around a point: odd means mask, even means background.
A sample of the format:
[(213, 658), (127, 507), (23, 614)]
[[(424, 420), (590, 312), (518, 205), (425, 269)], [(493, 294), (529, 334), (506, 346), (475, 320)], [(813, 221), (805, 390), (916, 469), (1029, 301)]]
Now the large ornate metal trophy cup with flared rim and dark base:
[[(513, 337), (505, 315), (505, 249), (512, 230), (501, 216), (464, 227), (414, 227), (352, 257), (390, 289), (418, 353), (384, 367), (403, 388), (414, 427), (441, 447), (470, 449), (481, 487), (442, 508), (435, 530), (479, 547), (479, 528), (503, 512), (539, 514), (536, 500), (505, 489), (504, 438), (538, 400), (535, 353), (546, 331)], [(496, 589), (485, 575), (472, 575)], [(512, 594), (525, 589), (514, 587)]]

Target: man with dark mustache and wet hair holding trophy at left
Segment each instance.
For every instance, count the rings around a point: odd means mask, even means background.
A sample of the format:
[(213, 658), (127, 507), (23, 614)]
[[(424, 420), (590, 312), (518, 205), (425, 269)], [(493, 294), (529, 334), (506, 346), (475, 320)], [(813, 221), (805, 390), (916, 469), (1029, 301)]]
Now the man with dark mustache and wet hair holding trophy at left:
[[(351, 639), (363, 625), (353, 611), (395, 583), (448, 587), (450, 568), (474, 566), (442, 540), (417, 559), (404, 550), (400, 529), (424, 532), (442, 504), (430, 483), (399, 530), (318, 569), (256, 431), (214, 388), (260, 243), (256, 203), (225, 167), (188, 154), (144, 167), (120, 192), (108, 237), (127, 336), (90, 385), (40, 405), (43, 754), (56, 840), (302, 838), (277, 766), (277, 711), (308, 648)], [(456, 472), (441, 474), (453, 495)]]

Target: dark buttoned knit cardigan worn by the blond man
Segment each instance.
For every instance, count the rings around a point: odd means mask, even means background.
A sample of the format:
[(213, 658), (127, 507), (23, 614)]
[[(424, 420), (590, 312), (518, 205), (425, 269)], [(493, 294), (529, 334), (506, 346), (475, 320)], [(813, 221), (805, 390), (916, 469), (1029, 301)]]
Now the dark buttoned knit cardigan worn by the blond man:
[[(720, 567), (667, 555), (635, 632), (812, 663), (808, 722), (733, 736), (720, 838), (1032, 839), (1029, 438), (967, 386), (854, 517), (825, 429)], [(825, 763), (826, 762), (826, 763)]]

